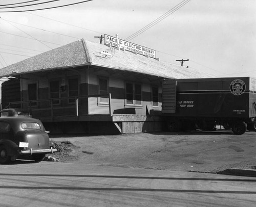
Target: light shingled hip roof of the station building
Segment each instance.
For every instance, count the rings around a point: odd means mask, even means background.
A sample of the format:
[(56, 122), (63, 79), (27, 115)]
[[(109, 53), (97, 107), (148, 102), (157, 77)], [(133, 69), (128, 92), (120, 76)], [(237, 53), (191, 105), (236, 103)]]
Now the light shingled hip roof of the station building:
[[(110, 55), (102, 55), (102, 51), (107, 51)], [(161, 62), (83, 39), (4, 67), (0, 69), (0, 77), (83, 65), (97, 65), (172, 79), (210, 77), (209, 74), (193, 68)]]

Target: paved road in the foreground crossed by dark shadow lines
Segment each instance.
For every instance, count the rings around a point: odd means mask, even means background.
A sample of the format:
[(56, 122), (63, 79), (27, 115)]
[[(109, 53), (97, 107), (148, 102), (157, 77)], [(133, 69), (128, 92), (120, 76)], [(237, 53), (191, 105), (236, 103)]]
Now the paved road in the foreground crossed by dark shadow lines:
[(0, 168), (1, 206), (254, 206), (256, 178), (70, 163)]

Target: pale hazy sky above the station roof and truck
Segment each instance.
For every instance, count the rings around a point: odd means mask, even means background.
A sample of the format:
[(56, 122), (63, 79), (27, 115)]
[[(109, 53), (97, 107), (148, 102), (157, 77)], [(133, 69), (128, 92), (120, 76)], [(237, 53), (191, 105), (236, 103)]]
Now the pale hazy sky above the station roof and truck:
[(95, 36), (118, 34), (125, 40), (152, 25), (129, 41), (155, 49), (160, 61), (189, 59), (183, 67), (212, 76), (256, 77), (255, 0), (93, 0), (10, 12), (82, 0), (13, 8), (50, 0), (16, 4), (28, 1), (0, 0), (0, 68), (81, 38), (99, 42)]

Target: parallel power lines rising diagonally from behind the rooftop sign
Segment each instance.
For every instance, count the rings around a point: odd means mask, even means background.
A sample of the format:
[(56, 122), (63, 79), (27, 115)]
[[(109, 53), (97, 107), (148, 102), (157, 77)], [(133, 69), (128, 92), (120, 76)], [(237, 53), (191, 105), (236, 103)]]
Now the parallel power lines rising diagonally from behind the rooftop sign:
[(180, 9), (181, 7), (183, 7), (184, 5), (186, 5), (188, 2), (190, 2), (191, 0), (183, 0), (181, 3), (179, 3), (178, 5), (176, 5), (174, 8), (170, 9), (169, 11), (165, 12), (163, 15), (161, 15), (160, 17), (158, 17), (157, 19), (155, 19), (154, 21), (152, 21), (151, 23), (147, 24), (145, 27), (143, 27), (142, 29), (140, 29), (139, 31), (137, 31), (136, 33), (130, 35), (129, 37), (127, 37), (125, 40), (132, 40), (135, 37), (137, 37), (138, 35), (144, 33), (146, 30), (152, 28), (154, 25), (156, 25), (157, 23), (159, 23), (160, 21), (162, 21), (163, 19), (165, 19), (166, 17), (168, 17), (170, 14), (173, 14), (174, 12), (176, 12), (178, 9)]

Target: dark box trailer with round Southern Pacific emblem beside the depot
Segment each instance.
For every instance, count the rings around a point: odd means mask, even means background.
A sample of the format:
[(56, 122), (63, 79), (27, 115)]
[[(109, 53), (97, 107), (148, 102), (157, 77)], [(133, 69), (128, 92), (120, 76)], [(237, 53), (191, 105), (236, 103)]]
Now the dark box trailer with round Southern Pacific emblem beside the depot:
[(164, 80), (162, 115), (169, 131), (256, 131), (256, 79), (221, 77)]

